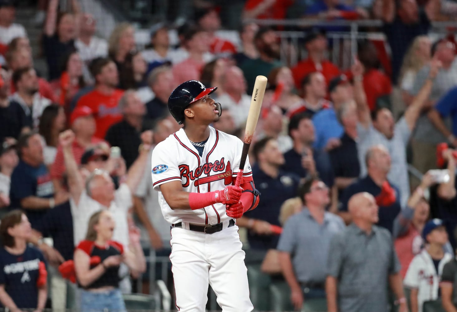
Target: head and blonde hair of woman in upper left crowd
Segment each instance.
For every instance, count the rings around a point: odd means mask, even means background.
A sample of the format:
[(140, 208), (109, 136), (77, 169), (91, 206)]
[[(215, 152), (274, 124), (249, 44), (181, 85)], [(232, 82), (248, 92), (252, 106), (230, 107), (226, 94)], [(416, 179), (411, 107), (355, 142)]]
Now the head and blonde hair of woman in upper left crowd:
[(122, 22), (112, 31), (108, 39), (108, 56), (121, 70), (127, 55), (135, 49), (135, 30), (128, 22)]

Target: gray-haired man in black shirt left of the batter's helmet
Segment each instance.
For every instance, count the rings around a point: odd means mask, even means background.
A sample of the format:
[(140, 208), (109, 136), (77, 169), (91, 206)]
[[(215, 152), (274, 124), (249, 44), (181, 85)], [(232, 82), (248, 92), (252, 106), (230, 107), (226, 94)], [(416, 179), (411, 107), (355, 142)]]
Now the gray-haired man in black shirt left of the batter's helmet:
[(111, 146), (118, 146), (121, 149), (122, 158), (125, 159), (128, 169), (138, 157), (146, 106), (141, 102), (137, 92), (127, 90), (119, 100), (118, 107), (122, 111), (123, 118), (108, 129), (105, 140)]

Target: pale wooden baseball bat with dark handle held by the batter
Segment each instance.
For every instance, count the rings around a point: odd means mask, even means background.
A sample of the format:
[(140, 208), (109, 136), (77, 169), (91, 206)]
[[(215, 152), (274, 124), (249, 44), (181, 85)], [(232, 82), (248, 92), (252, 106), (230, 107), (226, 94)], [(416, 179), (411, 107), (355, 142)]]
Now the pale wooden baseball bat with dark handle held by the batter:
[(239, 170), (236, 176), (235, 186), (239, 186), (243, 180), (244, 164), (248, 156), (249, 147), (251, 145), (252, 136), (254, 134), (257, 121), (259, 120), (260, 108), (262, 107), (263, 96), (266, 89), (266, 77), (255, 77), (254, 90), (252, 91), (251, 105), (249, 107), (248, 119), (246, 121), (246, 129), (244, 130), (244, 144), (241, 152), (241, 160), (239, 162)]

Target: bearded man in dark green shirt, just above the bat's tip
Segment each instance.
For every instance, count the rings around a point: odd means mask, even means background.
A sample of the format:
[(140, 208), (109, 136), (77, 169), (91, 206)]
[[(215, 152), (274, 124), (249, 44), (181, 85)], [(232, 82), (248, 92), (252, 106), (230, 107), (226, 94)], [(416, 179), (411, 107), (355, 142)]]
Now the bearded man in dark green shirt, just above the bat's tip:
[(278, 38), (271, 28), (260, 28), (255, 34), (254, 43), (259, 51), (259, 58), (248, 59), (241, 65), (249, 94), (252, 93), (257, 75), (268, 76), (273, 68), (281, 66)]

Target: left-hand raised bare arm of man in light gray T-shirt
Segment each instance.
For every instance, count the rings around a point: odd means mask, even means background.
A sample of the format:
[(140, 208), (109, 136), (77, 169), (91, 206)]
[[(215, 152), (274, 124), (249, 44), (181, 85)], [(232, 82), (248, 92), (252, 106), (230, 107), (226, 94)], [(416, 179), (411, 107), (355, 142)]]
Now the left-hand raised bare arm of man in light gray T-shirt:
[(367, 129), (371, 123), (371, 116), (367, 103), (367, 95), (363, 89), (364, 70), (362, 63), (358, 59), (355, 59), (351, 71), (352, 75), (354, 75), (354, 99), (357, 104), (357, 117), (359, 118), (359, 123)]

